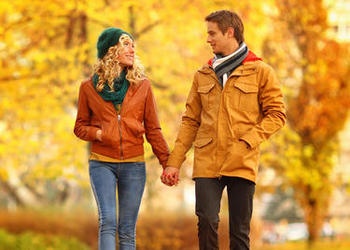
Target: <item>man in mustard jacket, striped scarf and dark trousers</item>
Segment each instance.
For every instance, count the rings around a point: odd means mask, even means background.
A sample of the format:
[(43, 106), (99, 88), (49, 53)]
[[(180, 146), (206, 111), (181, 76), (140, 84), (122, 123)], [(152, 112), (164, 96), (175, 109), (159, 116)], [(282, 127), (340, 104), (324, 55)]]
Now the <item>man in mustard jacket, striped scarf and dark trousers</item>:
[(169, 186), (177, 184), (179, 168), (194, 145), (199, 249), (219, 249), (219, 212), (225, 187), (230, 249), (249, 249), (259, 145), (285, 124), (285, 106), (272, 68), (244, 43), (239, 16), (221, 10), (205, 21), (207, 42), (215, 56), (194, 75), (161, 179)]

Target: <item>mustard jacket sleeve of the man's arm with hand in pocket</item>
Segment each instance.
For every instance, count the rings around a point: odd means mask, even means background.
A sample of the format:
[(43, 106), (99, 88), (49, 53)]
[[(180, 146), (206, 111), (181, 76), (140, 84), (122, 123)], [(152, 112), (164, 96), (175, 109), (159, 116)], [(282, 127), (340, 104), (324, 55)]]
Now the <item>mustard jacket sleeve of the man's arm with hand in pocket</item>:
[(286, 110), (280, 83), (273, 69), (264, 64), (258, 71), (259, 105), (262, 118), (240, 139), (252, 148), (259, 146), (272, 134), (281, 129), (286, 122)]

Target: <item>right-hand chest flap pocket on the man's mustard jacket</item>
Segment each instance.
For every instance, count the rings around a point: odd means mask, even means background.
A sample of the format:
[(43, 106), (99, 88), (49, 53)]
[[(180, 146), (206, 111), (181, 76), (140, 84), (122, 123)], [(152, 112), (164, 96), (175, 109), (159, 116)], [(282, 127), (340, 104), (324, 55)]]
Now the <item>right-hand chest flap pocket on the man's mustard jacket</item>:
[(254, 83), (237, 81), (230, 88), (229, 102), (233, 109), (247, 112), (259, 112), (259, 89)]

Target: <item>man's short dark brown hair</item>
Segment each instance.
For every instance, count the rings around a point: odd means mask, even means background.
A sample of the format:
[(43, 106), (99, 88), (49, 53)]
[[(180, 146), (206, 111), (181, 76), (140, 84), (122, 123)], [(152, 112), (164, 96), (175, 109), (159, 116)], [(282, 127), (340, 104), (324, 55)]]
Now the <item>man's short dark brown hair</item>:
[(244, 26), (237, 13), (229, 10), (218, 10), (209, 14), (205, 18), (205, 21), (217, 23), (220, 31), (223, 34), (229, 27), (232, 27), (235, 30), (235, 38), (238, 44), (241, 44), (244, 41)]

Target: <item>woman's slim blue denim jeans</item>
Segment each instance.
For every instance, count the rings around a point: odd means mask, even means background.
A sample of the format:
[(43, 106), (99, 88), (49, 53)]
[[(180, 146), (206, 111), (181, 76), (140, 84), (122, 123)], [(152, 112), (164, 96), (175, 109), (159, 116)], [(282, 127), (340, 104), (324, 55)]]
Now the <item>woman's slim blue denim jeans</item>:
[[(89, 161), (99, 215), (99, 249), (115, 250), (118, 200), (119, 250), (136, 249), (136, 221), (146, 182), (144, 162)], [(116, 193), (118, 190), (118, 199)]]

